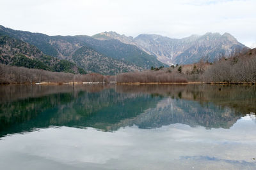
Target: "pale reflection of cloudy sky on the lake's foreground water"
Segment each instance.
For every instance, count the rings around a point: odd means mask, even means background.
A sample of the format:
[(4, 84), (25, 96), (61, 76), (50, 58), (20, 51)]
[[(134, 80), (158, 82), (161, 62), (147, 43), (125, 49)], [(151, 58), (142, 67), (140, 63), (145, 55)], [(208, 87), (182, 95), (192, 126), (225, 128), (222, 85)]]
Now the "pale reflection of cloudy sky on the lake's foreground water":
[[(0, 168), (254, 169), (254, 129), (250, 116), (237, 120), (230, 129), (211, 131), (183, 124), (125, 127), (115, 132), (50, 127), (4, 137)], [(26, 166), (20, 166), (24, 162)]]

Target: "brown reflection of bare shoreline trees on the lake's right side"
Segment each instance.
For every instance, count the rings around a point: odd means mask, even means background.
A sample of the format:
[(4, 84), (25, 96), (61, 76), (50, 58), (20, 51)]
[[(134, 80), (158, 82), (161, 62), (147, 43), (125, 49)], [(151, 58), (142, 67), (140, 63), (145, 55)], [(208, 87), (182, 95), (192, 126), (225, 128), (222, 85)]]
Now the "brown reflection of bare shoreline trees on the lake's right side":
[(256, 112), (256, 87), (254, 85), (120, 85), (118, 92), (154, 94), (214, 103), (220, 107), (234, 108), (236, 113)]

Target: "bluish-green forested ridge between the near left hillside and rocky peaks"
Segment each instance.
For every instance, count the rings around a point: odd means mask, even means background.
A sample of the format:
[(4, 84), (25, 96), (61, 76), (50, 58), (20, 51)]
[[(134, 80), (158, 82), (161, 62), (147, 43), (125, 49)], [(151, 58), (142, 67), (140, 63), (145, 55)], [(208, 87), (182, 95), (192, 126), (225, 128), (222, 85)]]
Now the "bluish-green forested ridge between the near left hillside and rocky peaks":
[(137, 46), (116, 39), (100, 41), (90, 36), (47, 36), (0, 26), (0, 36), (9, 36), (36, 46), (45, 55), (74, 62), (87, 72), (116, 74), (167, 66)]

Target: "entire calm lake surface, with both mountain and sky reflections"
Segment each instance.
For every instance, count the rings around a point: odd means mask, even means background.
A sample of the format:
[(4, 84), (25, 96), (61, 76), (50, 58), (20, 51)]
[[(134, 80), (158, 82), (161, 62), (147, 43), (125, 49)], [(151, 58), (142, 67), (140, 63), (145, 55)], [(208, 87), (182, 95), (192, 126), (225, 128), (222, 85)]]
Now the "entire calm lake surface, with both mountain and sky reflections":
[(256, 87), (0, 87), (0, 169), (256, 169)]

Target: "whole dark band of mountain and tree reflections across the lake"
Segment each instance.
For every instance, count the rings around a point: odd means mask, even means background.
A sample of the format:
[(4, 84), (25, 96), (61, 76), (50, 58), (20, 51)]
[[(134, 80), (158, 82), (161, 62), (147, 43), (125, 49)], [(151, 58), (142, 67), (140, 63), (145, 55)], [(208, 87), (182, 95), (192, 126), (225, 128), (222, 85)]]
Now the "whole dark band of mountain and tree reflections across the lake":
[(230, 128), (255, 112), (255, 91), (254, 86), (212, 85), (4, 86), (0, 136), (51, 125), (103, 131), (175, 123)]

